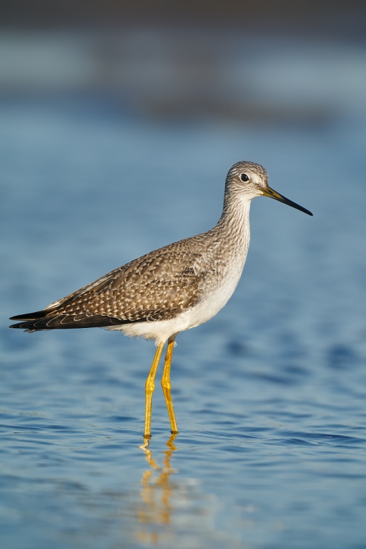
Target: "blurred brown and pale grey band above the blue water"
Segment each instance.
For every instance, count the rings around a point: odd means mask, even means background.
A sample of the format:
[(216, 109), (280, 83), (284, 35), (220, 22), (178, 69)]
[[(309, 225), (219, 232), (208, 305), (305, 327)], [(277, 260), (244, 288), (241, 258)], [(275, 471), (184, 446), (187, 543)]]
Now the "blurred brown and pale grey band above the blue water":
[(362, 1), (1, 4), (2, 95), (124, 114), (317, 124), (365, 97)]

